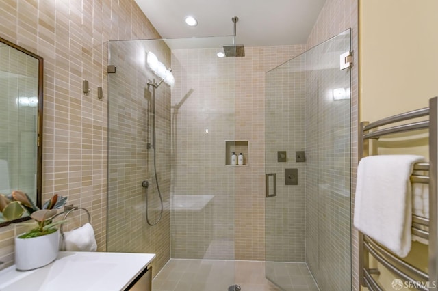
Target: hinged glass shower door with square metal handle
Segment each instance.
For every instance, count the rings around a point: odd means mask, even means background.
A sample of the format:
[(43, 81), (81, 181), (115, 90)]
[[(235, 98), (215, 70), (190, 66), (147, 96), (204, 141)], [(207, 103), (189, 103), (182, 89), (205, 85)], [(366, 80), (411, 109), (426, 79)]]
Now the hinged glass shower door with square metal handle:
[(350, 290), (350, 30), (266, 73), (266, 277)]

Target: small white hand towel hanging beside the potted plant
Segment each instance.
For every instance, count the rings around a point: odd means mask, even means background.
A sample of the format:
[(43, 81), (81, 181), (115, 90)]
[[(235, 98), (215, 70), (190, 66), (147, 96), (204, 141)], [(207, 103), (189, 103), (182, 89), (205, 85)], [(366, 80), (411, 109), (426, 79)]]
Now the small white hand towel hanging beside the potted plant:
[(86, 223), (75, 230), (64, 232), (62, 251), (96, 251), (97, 244), (94, 230), (90, 223)]

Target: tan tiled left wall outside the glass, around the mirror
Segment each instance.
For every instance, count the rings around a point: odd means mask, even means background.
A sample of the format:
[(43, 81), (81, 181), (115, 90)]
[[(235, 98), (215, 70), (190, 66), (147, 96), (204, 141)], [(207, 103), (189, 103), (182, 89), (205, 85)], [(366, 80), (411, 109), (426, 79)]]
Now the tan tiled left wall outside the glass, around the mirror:
[[(133, 0), (2, 0), (0, 31), (44, 58), (43, 199), (59, 193), (90, 210), (99, 251), (105, 251), (107, 41), (159, 34)], [(90, 82), (88, 96), (83, 79)], [(97, 87), (103, 87), (102, 101)], [(15, 226), (0, 230), (0, 268), (14, 264), (14, 232)]]

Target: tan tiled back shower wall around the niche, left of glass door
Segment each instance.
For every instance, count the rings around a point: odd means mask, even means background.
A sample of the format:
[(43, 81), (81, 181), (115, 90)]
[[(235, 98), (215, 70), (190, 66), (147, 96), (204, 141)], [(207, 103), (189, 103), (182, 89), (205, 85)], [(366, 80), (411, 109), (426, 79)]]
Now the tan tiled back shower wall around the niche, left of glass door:
[[(265, 259), (265, 74), (303, 49), (246, 47), (245, 57), (224, 59), (211, 49), (172, 51), (172, 195), (215, 195), (207, 214), (214, 233), (203, 238), (222, 242), (212, 244), (218, 246), (215, 258)], [(227, 140), (248, 141), (248, 165), (225, 165)], [(172, 242), (188, 242), (202, 231), (177, 219), (185, 214), (172, 215)], [(209, 217), (205, 221), (203, 227)], [(235, 245), (235, 253), (227, 253), (224, 241)], [(172, 257), (183, 250), (194, 253), (187, 243), (172, 244)]]

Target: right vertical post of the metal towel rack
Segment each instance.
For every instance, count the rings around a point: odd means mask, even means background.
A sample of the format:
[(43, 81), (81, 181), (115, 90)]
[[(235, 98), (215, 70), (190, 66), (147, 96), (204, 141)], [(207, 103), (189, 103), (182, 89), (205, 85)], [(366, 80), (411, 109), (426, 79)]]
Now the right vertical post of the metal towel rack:
[(429, 290), (438, 290), (438, 97), (429, 100)]

